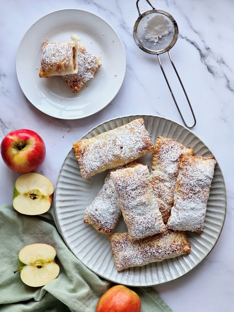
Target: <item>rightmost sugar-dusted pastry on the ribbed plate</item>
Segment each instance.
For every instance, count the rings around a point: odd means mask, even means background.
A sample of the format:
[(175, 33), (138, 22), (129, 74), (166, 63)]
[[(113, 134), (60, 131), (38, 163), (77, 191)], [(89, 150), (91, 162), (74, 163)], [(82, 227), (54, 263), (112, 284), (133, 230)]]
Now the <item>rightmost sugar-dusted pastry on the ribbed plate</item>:
[(216, 161), (214, 157), (181, 155), (174, 206), (167, 228), (202, 232)]

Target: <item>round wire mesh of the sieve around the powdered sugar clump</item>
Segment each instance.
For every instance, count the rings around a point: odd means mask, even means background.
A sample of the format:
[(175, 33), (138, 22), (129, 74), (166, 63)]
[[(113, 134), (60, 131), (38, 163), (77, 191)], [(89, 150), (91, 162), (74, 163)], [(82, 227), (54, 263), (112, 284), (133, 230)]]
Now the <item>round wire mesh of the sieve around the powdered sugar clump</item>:
[[(168, 19), (169, 22), (169, 33), (168, 35), (162, 36), (162, 38), (158, 39), (158, 42), (150, 41), (149, 39), (145, 39), (144, 34), (147, 27), (149, 20), (154, 17), (155, 15), (163, 15), (163, 17)], [(137, 37), (142, 44), (147, 49), (160, 51), (165, 49), (169, 44), (173, 41), (175, 36), (175, 28), (173, 22), (170, 20), (169, 17), (162, 13), (149, 13), (148, 15), (144, 16), (137, 27)]]

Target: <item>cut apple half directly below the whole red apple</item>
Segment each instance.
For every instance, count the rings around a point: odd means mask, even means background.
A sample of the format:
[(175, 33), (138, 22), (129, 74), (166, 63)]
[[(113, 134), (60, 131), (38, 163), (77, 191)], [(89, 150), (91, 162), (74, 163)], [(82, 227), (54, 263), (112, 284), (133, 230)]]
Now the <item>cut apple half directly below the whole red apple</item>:
[(20, 213), (34, 216), (51, 207), (54, 195), (52, 182), (35, 172), (17, 178), (13, 191), (13, 207)]

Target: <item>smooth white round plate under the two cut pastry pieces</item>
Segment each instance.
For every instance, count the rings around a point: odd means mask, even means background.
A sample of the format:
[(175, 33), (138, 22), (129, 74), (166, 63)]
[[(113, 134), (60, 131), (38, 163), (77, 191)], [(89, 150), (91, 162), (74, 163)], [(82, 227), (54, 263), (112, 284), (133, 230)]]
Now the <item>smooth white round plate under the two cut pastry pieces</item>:
[[(57, 76), (38, 76), (42, 42), (72, 41), (72, 34), (77, 34), (91, 53), (102, 57), (99, 71), (76, 94)], [(16, 56), (17, 77), (27, 99), (45, 114), (61, 119), (83, 118), (103, 109), (119, 91), (125, 69), (124, 48), (115, 30), (101, 17), (78, 9), (41, 17), (24, 35)]]

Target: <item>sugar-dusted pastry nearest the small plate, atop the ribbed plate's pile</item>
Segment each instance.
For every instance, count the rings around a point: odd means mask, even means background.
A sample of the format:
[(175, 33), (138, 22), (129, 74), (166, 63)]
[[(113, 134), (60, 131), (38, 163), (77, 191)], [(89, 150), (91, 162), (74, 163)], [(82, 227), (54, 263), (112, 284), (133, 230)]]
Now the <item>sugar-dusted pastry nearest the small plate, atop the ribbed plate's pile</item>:
[(122, 166), (152, 152), (153, 142), (142, 118), (73, 143), (80, 173), (84, 179), (96, 173)]

